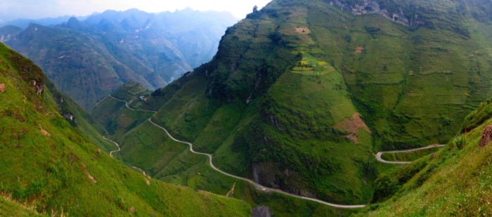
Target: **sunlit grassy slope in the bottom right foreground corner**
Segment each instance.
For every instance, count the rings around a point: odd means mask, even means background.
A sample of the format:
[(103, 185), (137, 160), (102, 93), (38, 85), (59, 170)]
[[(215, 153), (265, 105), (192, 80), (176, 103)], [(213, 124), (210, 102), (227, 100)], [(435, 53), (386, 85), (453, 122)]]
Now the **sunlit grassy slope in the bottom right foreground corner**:
[[(490, 101), (482, 109), (489, 110)], [(485, 216), (492, 212), (491, 179), (492, 162), (490, 154), (492, 145), (479, 147), (482, 131), (492, 124), (489, 116), (477, 121), (476, 127), (465, 133), (465, 142), (452, 140), (449, 147), (436, 152), (436, 157), (423, 157), (417, 164), (424, 165), (422, 170), (411, 174), (408, 182), (401, 183), (401, 188), (389, 195), (390, 199), (380, 204), (373, 204), (359, 216)], [(481, 119), (481, 118), (479, 118)], [(465, 121), (464, 126), (466, 126)], [(458, 142), (458, 143), (457, 143)], [(408, 173), (403, 173), (408, 176)], [(394, 175), (394, 171), (389, 175)]]

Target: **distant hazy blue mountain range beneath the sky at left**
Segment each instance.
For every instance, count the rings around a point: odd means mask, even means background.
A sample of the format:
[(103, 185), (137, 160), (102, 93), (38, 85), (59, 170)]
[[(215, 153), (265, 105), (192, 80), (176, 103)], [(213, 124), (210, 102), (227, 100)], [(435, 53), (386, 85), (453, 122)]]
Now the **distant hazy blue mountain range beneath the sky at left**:
[(155, 15), (132, 9), (84, 21), (70, 18), (56, 27), (9, 25), (0, 28), (0, 39), (34, 60), (60, 91), (89, 110), (128, 81), (155, 90), (212, 59), (234, 22), (230, 13)]

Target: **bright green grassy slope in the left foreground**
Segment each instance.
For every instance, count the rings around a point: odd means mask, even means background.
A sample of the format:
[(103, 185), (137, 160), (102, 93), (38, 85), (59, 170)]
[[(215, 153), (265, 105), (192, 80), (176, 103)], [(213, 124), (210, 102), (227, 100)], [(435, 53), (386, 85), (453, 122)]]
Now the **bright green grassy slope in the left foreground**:
[(34, 93), (32, 79), (38, 85), (44, 79), (38, 67), (0, 46), (0, 83), (7, 89), (0, 93), (1, 192), (35, 204), (37, 211), (63, 209), (73, 216), (127, 216), (131, 207), (137, 216), (250, 215), (250, 206), (235, 199), (158, 180), (147, 185)]

